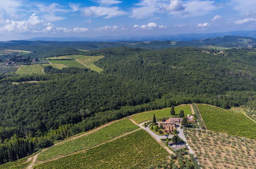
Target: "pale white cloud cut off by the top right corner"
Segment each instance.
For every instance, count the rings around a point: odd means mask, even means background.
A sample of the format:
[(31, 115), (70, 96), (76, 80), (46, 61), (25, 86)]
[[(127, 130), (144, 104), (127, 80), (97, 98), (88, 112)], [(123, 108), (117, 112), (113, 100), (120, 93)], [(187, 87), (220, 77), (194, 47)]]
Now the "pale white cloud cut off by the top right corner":
[(241, 12), (243, 15), (256, 15), (255, 0), (231, 0), (230, 5), (233, 6), (234, 10)]

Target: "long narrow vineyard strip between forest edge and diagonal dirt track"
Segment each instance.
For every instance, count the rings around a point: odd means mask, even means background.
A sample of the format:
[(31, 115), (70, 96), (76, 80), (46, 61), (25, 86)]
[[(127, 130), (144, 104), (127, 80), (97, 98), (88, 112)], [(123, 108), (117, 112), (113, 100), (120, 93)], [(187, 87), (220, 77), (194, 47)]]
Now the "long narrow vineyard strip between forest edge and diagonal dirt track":
[(128, 119), (116, 121), (104, 128), (87, 134), (85, 136), (66, 141), (52, 146), (50, 149), (42, 152), (38, 156), (38, 160), (45, 161), (58, 156), (65, 156), (78, 151), (89, 149), (92, 146), (99, 145), (117, 136), (121, 136), (127, 132), (139, 129), (139, 126), (133, 124)]

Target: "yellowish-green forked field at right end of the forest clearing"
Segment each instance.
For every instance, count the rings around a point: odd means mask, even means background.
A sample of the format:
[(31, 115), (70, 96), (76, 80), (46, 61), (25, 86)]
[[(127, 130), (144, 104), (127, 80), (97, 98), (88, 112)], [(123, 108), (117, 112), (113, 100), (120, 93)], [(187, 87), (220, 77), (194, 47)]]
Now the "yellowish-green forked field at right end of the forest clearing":
[(102, 72), (103, 71), (103, 69), (95, 66), (93, 64), (93, 62), (95, 62), (95, 61), (97, 61), (99, 59), (102, 59), (104, 56), (69, 55), (67, 57), (77, 59), (78, 61), (80, 61), (83, 64), (85, 64), (88, 68), (90, 68), (93, 71), (96, 71), (96, 72)]

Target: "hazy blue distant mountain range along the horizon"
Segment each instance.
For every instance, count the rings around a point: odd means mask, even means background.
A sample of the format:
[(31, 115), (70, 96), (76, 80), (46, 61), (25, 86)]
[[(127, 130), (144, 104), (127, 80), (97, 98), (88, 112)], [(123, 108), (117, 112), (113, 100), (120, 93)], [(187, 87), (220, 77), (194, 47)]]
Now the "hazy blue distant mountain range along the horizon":
[(195, 39), (222, 37), (222, 36), (245, 36), (256, 38), (254, 31), (233, 31), (220, 33), (189, 33), (163, 36), (95, 36), (95, 37), (36, 37), (28, 39), (29, 41), (155, 41), (155, 40), (172, 40), (172, 41), (190, 41)]

